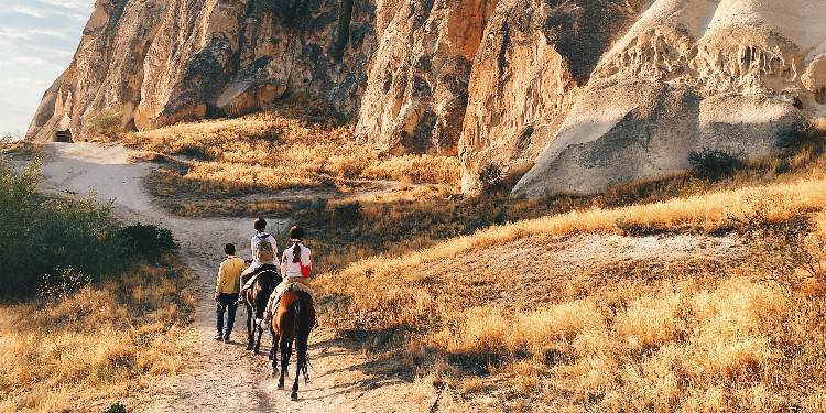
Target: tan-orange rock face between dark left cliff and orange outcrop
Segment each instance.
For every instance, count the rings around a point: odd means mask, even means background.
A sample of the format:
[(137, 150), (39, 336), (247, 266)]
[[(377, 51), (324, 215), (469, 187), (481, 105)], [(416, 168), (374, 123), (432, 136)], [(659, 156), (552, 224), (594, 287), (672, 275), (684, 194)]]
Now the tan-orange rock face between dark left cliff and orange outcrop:
[(497, 0), (406, 0), (369, 68), (357, 134), (393, 153), (455, 155), (474, 56)]

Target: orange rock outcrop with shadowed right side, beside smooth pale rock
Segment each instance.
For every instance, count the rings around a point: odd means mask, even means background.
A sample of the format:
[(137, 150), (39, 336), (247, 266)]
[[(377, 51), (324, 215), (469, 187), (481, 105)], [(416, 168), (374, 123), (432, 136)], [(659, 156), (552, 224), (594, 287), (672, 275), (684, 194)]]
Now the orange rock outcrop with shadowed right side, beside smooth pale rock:
[(648, 0), (503, 0), (474, 62), (459, 145), (463, 188), (508, 174), (553, 140), (618, 32)]

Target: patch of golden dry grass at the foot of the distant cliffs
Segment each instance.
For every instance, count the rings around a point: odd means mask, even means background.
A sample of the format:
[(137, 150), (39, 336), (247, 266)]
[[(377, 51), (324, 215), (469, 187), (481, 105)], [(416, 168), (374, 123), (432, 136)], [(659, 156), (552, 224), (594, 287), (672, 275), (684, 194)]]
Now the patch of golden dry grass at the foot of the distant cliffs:
[(149, 154), (187, 157), (184, 170), (162, 172), (164, 182), (159, 186), (209, 196), (329, 185), (347, 189), (366, 180), (455, 183), (460, 178), (456, 157), (392, 156), (357, 143), (349, 126), (308, 124), (306, 113), (295, 112), (176, 124), (130, 133), (119, 142)]

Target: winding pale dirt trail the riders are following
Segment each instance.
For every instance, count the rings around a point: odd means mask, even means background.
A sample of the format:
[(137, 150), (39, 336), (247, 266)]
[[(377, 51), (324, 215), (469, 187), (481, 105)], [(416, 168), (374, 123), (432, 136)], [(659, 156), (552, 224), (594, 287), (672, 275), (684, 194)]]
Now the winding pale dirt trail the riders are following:
[[(45, 155), (41, 189), (45, 193), (85, 196), (96, 192), (99, 202), (111, 200), (112, 214), (124, 222), (160, 225), (170, 229), (182, 246), (187, 264), (198, 278), (195, 323), (185, 339), (192, 356), (169, 394), (159, 394), (151, 412), (393, 412), (427, 411), (436, 398), (432, 389), (370, 374), (365, 354), (348, 349), (323, 327), (311, 335), (309, 384), (301, 381), (300, 400), (290, 400), (270, 378), (267, 358), (271, 340), (264, 336), (261, 354), (246, 350), (246, 311), (238, 309), (231, 340), (213, 340), (215, 335), (215, 278), (224, 260), (222, 246), (233, 242), (240, 257), (249, 257), (253, 217), (187, 219), (169, 215), (153, 204), (142, 180), (155, 167), (132, 163), (122, 146), (94, 143), (55, 143), (43, 146)], [(283, 228), (286, 222), (271, 221)], [(291, 374), (294, 372), (294, 360)], [(289, 388), (289, 387), (287, 387)]]

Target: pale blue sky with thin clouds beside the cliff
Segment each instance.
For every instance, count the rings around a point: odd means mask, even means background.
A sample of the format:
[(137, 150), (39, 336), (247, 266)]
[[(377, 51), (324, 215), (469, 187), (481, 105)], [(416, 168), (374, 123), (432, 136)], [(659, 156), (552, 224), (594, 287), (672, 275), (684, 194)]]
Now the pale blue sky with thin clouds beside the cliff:
[(24, 137), (72, 62), (95, 0), (0, 0), (0, 137)]

